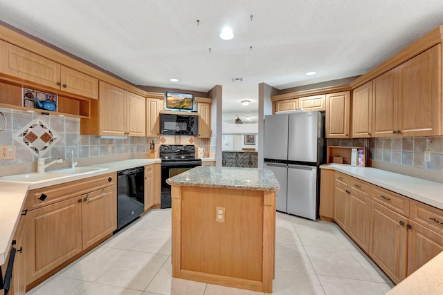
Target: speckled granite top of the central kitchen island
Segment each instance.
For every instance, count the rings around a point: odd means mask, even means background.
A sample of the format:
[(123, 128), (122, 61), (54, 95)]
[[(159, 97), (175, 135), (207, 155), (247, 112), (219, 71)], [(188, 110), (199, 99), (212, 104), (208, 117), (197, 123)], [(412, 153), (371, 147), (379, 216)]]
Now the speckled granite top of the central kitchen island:
[(166, 180), (184, 187), (214, 187), (251, 191), (278, 191), (280, 184), (270, 169), (198, 166)]

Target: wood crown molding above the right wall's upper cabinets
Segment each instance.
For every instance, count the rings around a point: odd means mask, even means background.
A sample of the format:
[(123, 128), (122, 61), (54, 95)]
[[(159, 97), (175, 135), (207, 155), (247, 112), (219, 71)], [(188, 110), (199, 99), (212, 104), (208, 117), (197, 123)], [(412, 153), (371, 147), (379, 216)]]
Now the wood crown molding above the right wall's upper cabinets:
[(442, 40), (443, 26), (438, 26), (434, 30), (431, 30), (431, 32), (428, 32), (428, 34), (424, 35), (422, 38), (415, 41), (413, 44), (410, 44), (403, 50), (399, 51), (399, 53), (397, 53), (396, 55), (393, 55), (375, 68), (372, 68), (372, 70), (368, 71), (368, 73), (365, 73), (364, 75), (361, 75), (360, 77), (352, 81), (350, 83), (351, 88), (357, 88), (365, 84), (366, 82), (369, 82), (370, 80), (378, 77), (379, 75), (388, 72), (388, 70), (399, 66), (399, 64), (404, 63), (404, 61), (407, 61), (408, 59), (419, 55), (425, 50), (428, 50), (429, 48), (442, 43)]

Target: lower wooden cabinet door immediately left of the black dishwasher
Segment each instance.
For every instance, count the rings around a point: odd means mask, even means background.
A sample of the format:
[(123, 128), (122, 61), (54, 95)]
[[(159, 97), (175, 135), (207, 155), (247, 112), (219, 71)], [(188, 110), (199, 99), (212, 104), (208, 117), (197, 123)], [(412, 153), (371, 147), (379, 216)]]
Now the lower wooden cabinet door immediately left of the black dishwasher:
[(117, 229), (117, 188), (112, 185), (82, 198), (82, 246), (87, 249)]

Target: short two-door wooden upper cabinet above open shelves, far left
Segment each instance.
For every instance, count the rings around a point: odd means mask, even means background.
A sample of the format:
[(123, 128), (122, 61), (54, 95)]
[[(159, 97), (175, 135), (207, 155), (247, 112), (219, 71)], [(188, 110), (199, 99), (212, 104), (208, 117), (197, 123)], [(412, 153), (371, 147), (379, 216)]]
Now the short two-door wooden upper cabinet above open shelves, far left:
[(98, 79), (0, 40), (0, 73), (15, 79), (98, 98)]

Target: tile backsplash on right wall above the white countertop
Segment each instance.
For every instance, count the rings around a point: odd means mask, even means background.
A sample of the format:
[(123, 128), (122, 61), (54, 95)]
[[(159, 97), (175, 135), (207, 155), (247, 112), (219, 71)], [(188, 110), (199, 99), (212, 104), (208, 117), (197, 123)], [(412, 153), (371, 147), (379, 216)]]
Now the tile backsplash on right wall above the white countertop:
[[(330, 146), (364, 146), (369, 160), (443, 171), (443, 136), (328, 139)], [(424, 161), (424, 152), (431, 161)]]

